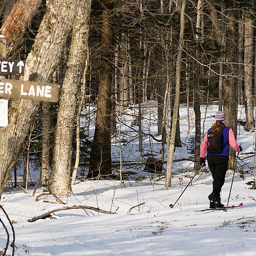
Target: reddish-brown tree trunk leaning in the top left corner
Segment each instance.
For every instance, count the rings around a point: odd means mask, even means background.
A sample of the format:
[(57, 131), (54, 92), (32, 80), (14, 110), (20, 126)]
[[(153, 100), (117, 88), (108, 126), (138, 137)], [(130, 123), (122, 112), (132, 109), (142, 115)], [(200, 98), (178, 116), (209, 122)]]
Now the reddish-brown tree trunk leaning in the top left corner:
[[(42, 0), (17, 0), (10, 15), (7, 17), (0, 34), (7, 39), (9, 55), (15, 51), (20, 40), (36, 14)], [(9, 5), (10, 3), (8, 3)]]

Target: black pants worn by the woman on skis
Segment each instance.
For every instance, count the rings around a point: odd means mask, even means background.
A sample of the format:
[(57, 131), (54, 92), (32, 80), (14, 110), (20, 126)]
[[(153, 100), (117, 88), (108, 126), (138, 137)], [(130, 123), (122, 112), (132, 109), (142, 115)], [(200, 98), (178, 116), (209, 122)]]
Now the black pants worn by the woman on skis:
[(225, 182), (228, 166), (228, 156), (207, 155), (208, 166), (214, 181), (212, 182), (212, 193), (216, 202), (220, 202), (221, 188)]

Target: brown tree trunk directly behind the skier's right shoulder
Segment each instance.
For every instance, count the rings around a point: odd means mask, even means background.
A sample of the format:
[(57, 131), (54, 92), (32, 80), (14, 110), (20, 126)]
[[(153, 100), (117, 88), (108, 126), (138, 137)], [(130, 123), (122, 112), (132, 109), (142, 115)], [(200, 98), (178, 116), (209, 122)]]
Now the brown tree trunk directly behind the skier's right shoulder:
[[(226, 115), (226, 124), (231, 127), (235, 136), (237, 135), (237, 109), (238, 109), (238, 66), (237, 66), (237, 23), (234, 10), (226, 11), (226, 65), (224, 79), (224, 106), (223, 110)], [(236, 168), (236, 154), (230, 150), (229, 168)]]

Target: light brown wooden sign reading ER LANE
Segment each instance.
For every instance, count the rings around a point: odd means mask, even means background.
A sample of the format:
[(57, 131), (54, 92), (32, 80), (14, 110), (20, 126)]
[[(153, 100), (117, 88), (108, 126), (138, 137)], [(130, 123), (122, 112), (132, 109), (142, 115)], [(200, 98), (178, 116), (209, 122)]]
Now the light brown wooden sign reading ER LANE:
[(0, 79), (0, 98), (57, 102), (59, 88), (56, 83)]

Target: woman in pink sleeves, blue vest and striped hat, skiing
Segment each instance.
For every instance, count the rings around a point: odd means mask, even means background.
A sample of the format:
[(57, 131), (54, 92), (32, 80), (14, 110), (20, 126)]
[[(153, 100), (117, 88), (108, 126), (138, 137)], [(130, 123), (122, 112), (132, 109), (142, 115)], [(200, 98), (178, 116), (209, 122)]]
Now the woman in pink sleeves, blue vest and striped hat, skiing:
[(207, 153), (208, 166), (214, 179), (212, 182), (212, 193), (208, 196), (210, 208), (223, 208), (221, 203), (221, 188), (225, 182), (228, 167), (229, 145), (236, 152), (241, 152), (242, 147), (234, 138), (232, 129), (225, 126), (225, 114), (218, 111), (215, 114), (215, 123), (204, 136), (200, 149), (200, 165), (205, 166), (205, 151)]

